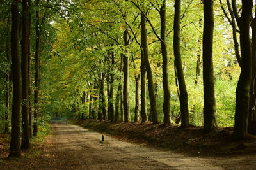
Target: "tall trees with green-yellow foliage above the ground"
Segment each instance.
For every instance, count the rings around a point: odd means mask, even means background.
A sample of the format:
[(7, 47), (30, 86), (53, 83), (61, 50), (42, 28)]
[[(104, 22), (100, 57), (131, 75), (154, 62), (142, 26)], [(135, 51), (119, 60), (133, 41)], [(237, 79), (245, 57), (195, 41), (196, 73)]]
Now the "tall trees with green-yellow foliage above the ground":
[(8, 157), (50, 120), (256, 134), (256, 1), (3, 0), (0, 9)]

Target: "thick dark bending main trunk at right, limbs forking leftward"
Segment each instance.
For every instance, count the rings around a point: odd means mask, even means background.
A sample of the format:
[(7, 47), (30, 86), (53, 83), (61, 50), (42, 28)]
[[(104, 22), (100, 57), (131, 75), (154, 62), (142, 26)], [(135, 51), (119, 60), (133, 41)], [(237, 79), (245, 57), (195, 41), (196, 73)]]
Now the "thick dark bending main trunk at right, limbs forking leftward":
[(236, 113), (233, 132), (235, 139), (243, 139), (248, 133), (249, 92), (252, 80), (251, 16), (252, 0), (242, 0), (242, 14), (239, 18), (242, 60), (241, 74), (236, 88)]

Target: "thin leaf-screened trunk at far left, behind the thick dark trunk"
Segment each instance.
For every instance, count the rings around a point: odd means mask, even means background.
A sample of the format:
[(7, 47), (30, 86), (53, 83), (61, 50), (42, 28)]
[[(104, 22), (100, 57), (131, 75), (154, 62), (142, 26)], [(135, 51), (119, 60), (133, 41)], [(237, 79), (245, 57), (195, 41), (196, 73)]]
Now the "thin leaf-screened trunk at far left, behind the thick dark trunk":
[[(10, 17), (7, 17), (7, 31), (6, 31), (6, 59), (8, 60), (8, 62), (11, 62), (11, 58), (10, 58), (10, 39), (8, 37), (10, 37)], [(8, 133), (10, 132), (10, 121), (9, 121), (9, 117), (10, 117), (10, 105), (11, 105), (11, 80), (10, 80), (10, 71), (6, 74), (6, 103), (5, 103), (5, 107), (6, 107), (6, 111), (5, 111), (5, 115), (4, 115), (4, 132)]]

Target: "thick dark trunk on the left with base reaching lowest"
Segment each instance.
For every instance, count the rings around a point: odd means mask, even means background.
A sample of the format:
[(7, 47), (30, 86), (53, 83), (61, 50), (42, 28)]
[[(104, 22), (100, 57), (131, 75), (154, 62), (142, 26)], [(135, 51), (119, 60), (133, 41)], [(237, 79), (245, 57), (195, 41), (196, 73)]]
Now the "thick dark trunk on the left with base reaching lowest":
[(21, 110), (21, 71), (19, 54), (19, 1), (13, 1), (12, 4), (12, 31), (11, 31), (11, 71), (13, 76), (13, 102), (12, 102), (12, 131), (10, 142), (10, 153), (8, 157), (21, 157), (20, 152), (20, 110)]

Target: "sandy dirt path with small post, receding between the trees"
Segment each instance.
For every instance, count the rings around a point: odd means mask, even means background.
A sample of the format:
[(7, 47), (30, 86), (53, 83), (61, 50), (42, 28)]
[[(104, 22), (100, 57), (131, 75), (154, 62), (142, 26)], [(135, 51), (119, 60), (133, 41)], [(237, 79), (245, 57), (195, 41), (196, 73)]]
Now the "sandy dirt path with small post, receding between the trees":
[[(222, 169), (202, 158), (120, 141), (64, 122), (52, 122), (34, 169)], [(36, 168), (35, 168), (36, 167)]]

